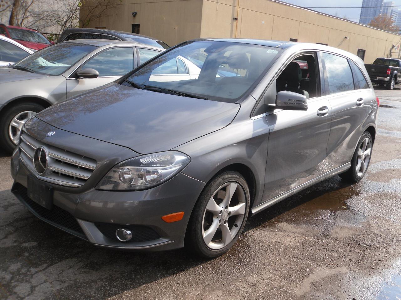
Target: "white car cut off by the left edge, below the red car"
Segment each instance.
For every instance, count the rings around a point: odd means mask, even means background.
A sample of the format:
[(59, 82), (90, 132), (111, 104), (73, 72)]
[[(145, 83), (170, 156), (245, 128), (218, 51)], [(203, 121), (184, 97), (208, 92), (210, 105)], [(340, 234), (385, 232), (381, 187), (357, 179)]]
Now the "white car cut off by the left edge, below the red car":
[(14, 64), (32, 53), (32, 50), (20, 43), (0, 35), (0, 66)]

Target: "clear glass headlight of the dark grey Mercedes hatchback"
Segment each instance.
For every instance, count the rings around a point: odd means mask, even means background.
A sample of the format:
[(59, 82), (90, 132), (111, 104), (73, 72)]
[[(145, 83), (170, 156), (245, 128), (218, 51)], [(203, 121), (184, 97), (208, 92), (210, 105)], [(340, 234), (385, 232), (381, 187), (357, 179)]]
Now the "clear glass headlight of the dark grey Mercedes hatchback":
[(100, 190), (144, 190), (161, 184), (190, 162), (184, 153), (166, 151), (131, 158), (111, 169), (97, 184)]

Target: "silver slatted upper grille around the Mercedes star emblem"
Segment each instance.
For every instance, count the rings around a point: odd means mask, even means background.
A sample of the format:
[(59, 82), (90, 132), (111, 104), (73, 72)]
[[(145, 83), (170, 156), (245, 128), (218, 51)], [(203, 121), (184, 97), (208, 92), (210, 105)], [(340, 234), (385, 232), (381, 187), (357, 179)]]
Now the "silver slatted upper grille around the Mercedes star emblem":
[(96, 167), (96, 161), (91, 158), (44, 144), (23, 132), (20, 143), (20, 157), (33, 174), (37, 174), (34, 171), (33, 156), (39, 146), (45, 148), (48, 153), (46, 172), (40, 176), (36, 175), (42, 180), (63, 186), (78, 187), (89, 179)]

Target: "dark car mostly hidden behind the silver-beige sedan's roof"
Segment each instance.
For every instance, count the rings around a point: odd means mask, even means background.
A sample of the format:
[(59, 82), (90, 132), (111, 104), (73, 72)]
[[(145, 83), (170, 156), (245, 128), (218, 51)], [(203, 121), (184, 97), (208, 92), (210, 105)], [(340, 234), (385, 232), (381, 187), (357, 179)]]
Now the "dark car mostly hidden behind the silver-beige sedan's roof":
[(78, 40), (78, 39), (103, 39), (103, 40), (121, 40), (128, 42), (136, 42), (146, 44), (158, 48), (168, 49), (166, 43), (152, 38), (150, 36), (144, 36), (142, 34), (135, 34), (125, 31), (108, 30), (108, 29), (97, 29), (97, 28), (69, 28), (63, 31), (59, 42)]

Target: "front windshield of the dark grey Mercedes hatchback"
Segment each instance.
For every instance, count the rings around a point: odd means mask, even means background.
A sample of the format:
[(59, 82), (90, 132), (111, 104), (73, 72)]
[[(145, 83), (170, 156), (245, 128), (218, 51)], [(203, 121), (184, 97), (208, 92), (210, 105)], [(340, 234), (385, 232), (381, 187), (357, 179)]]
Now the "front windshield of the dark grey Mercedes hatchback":
[(187, 42), (150, 60), (127, 79), (141, 88), (235, 102), (259, 82), (279, 51), (239, 42)]

